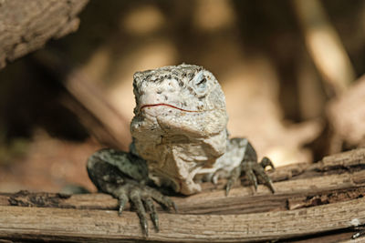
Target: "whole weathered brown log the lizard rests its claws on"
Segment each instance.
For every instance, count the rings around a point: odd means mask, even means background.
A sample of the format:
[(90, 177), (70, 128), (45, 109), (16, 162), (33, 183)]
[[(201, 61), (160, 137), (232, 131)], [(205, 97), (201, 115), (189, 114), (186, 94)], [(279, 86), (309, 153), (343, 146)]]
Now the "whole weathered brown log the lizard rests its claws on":
[[(0, 238), (72, 241), (240, 241), (321, 240), (351, 237), (365, 224), (365, 149), (270, 171), (276, 193), (235, 185), (224, 197), (224, 182), (203, 185), (191, 197), (173, 197), (179, 213), (160, 208), (161, 231), (150, 222), (141, 235), (135, 213), (118, 217), (116, 199), (103, 194), (1, 194)], [(245, 184), (245, 181), (244, 181)], [(13, 205), (13, 206), (10, 206)], [(22, 207), (14, 207), (22, 206)], [(41, 207), (41, 208), (36, 208)], [(309, 240), (309, 239), (308, 239)]]

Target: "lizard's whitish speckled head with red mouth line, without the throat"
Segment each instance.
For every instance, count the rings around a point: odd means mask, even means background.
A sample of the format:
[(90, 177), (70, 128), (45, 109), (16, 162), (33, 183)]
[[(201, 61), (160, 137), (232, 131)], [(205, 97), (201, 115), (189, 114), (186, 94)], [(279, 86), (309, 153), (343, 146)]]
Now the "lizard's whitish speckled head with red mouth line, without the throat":
[(170, 134), (208, 137), (225, 129), (227, 115), (221, 86), (202, 66), (164, 66), (137, 72), (133, 80), (136, 99), (131, 133), (141, 120)]

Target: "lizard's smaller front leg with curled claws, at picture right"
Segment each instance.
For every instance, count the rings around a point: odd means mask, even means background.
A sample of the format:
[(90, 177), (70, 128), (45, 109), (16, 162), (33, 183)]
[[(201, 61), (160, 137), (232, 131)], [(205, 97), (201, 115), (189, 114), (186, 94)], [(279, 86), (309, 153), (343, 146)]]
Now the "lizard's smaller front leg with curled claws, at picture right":
[(273, 193), (275, 192), (273, 183), (266, 175), (265, 168), (274, 168), (273, 163), (268, 157), (264, 157), (260, 163), (257, 162), (257, 155), (255, 148), (245, 138), (232, 138), (230, 143), (235, 145), (235, 149), (244, 149), (244, 157), (238, 167), (235, 167), (231, 171), (231, 175), (228, 177), (227, 185), (225, 187), (225, 195), (228, 195), (231, 187), (235, 184), (235, 181), (241, 176), (242, 172), (245, 173), (245, 177), (254, 185), (257, 189), (257, 178), (266, 185)]

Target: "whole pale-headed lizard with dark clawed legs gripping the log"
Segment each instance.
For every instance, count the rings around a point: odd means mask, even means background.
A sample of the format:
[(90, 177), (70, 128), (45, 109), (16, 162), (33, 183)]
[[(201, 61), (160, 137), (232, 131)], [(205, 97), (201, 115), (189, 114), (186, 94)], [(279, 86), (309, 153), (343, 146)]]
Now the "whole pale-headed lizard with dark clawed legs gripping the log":
[(192, 195), (200, 183), (227, 178), (225, 195), (244, 172), (257, 188), (257, 178), (274, 193), (265, 168), (246, 138), (228, 138), (228, 116), (222, 87), (203, 66), (182, 64), (137, 72), (133, 76), (136, 106), (130, 122), (130, 151), (102, 148), (88, 159), (91, 181), (119, 200), (119, 214), (130, 203), (142, 232), (148, 235), (146, 211), (156, 231), (159, 219), (153, 200), (174, 208), (161, 187)]

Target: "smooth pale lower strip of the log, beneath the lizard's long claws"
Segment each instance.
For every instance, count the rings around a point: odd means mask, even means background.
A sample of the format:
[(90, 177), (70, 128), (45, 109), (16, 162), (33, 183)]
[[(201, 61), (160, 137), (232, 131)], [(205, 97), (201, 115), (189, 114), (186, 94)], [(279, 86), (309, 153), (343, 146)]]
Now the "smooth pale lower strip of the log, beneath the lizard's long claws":
[[(118, 241), (141, 237), (139, 220), (125, 212), (72, 208), (0, 207), (0, 237), (42, 240)], [(365, 223), (365, 198), (297, 210), (237, 214), (160, 214), (161, 231), (149, 240), (250, 242), (318, 234)]]

